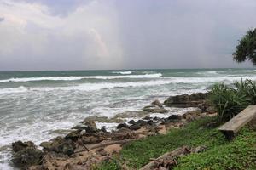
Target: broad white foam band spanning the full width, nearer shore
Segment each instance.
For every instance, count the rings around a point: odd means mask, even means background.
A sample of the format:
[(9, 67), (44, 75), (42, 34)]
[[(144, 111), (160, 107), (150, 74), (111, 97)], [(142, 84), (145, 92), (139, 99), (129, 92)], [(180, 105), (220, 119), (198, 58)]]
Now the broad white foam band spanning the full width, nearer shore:
[[(172, 77), (172, 78), (161, 78), (158, 80), (146, 81), (146, 82), (98, 82), (98, 83), (82, 83), (75, 86), (67, 87), (44, 87), (44, 88), (26, 88), (20, 86), (19, 88), (2, 88), (0, 89), (0, 94), (9, 94), (9, 93), (24, 93), (27, 91), (37, 92), (37, 91), (52, 91), (52, 90), (63, 90), (63, 91), (95, 91), (108, 88), (128, 88), (128, 87), (150, 87), (158, 86), (165, 84), (177, 84), (177, 83), (203, 83), (204, 86), (207, 86), (205, 83), (214, 83), (214, 82), (225, 82), (231, 83), (236, 81), (241, 81), (243, 79), (252, 79), (256, 80), (255, 76), (251, 77)], [(209, 84), (208, 84), (209, 85)]]

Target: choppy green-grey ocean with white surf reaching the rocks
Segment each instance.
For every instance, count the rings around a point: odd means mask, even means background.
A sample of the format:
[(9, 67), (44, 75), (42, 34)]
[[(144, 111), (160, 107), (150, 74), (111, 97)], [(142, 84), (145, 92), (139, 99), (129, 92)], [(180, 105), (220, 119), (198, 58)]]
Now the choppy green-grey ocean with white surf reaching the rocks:
[[(0, 169), (15, 169), (9, 160), (10, 144), (16, 140), (40, 144), (67, 133), (87, 116), (138, 111), (154, 99), (206, 92), (215, 82), (231, 84), (241, 78), (256, 80), (256, 70), (0, 72)], [(169, 110), (167, 116), (186, 111)], [(111, 129), (117, 123), (97, 125)]]

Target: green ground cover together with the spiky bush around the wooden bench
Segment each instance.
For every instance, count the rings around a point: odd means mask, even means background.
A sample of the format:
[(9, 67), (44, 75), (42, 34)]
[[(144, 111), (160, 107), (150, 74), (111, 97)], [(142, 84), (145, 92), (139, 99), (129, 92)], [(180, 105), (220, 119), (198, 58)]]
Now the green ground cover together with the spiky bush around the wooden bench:
[(175, 170), (256, 169), (256, 130), (243, 127), (232, 141), (226, 140), (218, 131), (223, 121), (236, 116), (247, 105), (256, 104), (256, 82), (241, 80), (232, 86), (215, 84), (209, 100), (218, 110), (218, 116), (190, 122), (180, 129), (172, 129), (166, 135), (151, 136), (127, 144), (119, 157), (102, 163), (97, 169), (118, 170), (122, 164), (138, 169), (147, 164), (150, 158), (157, 158), (183, 145), (206, 146), (207, 150), (180, 157)]

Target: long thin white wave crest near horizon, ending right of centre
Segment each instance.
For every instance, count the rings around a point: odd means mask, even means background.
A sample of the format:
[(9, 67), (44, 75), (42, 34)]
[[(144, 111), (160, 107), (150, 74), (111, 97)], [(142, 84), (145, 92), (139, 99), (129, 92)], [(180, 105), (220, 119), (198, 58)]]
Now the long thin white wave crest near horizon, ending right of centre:
[(35, 81), (75, 81), (82, 79), (119, 79), (119, 78), (157, 78), (161, 77), (161, 73), (146, 75), (129, 75), (129, 76), (91, 76), (91, 77), (26, 77), (26, 78), (10, 78), (0, 80), (0, 82), (35, 82)]

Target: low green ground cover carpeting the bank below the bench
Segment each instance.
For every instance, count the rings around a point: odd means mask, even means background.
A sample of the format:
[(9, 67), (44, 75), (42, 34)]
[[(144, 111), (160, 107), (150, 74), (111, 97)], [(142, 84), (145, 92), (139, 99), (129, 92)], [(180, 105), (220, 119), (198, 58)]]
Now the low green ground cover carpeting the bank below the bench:
[(217, 118), (203, 118), (181, 129), (172, 129), (166, 135), (132, 142), (125, 145), (119, 158), (103, 163), (98, 169), (120, 169), (120, 161), (138, 169), (147, 164), (150, 158), (183, 145), (204, 145), (207, 150), (183, 156), (175, 169), (256, 169), (256, 132), (245, 127), (236, 139), (228, 141), (218, 132), (216, 122)]

